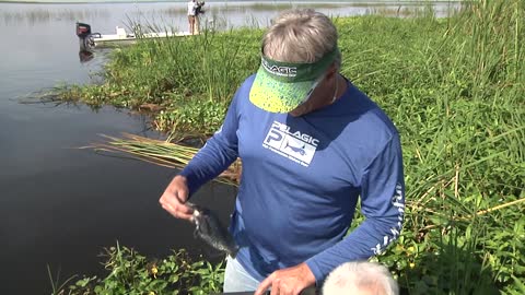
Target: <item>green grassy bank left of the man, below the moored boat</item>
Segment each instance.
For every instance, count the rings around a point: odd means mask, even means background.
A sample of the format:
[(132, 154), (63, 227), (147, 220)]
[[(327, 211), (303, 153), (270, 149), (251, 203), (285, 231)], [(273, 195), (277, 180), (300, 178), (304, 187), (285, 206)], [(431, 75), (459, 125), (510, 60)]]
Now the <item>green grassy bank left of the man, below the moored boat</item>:
[(144, 39), (112, 52), (102, 85), (72, 86), (60, 98), (94, 107), (108, 101), (129, 108), (158, 104), (166, 109), (154, 122), (160, 130), (211, 133), (236, 86), (256, 70), (260, 36), (261, 31), (207, 28), (191, 37)]

